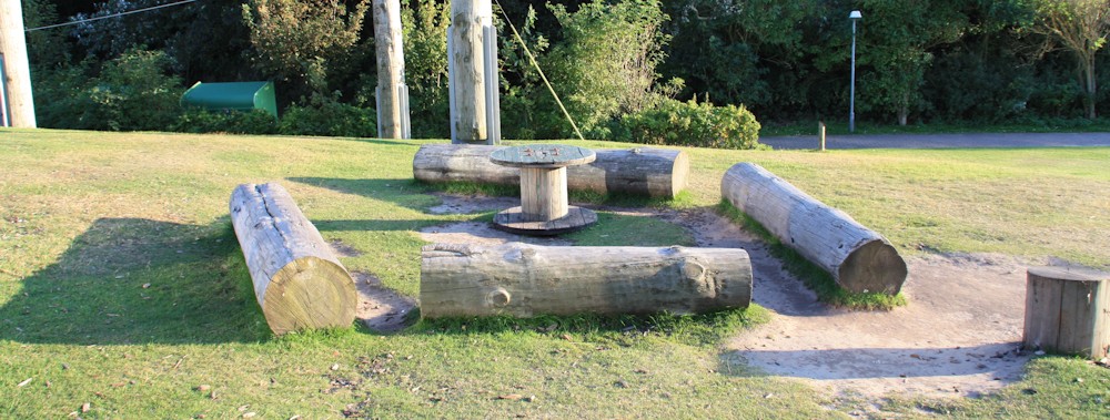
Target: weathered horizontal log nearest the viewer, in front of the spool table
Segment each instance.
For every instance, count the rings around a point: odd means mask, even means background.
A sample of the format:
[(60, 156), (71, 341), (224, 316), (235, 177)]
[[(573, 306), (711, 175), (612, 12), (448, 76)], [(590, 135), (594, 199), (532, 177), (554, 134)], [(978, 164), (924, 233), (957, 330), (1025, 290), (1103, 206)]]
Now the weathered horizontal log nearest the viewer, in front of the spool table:
[(421, 258), (425, 317), (703, 313), (751, 301), (744, 249), (434, 244)]

